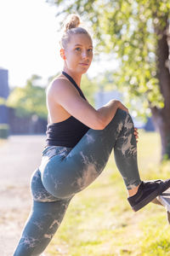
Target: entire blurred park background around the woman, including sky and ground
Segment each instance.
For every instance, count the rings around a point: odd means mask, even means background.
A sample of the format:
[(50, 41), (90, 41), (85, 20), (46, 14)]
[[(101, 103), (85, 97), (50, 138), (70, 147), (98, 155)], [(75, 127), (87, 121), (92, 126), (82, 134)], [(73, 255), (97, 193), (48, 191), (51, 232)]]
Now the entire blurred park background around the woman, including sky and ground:
[[(94, 108), (112, 98), (122, 101), (139, 128), (139, 166), (143, 176), (169, 177), (169, 1), (0, 1), (0, 190), (3, 195), (0, 224), (4, 230), (0, 236), (0, 253), (4, 256), (12, 252), (30, 209), (29, 180), (40, 163), (45, 144), (45, 90), (62, 71), (60, 29), (62, 21), (72, 13), (81, 16), (94, 40), (94, 61), (82, 76), (82, 90), (88, 101)], [(107, 174), (102, 176), (104, 179), (94, 183), (89, 192), (81, 192), (76, 197), (72, 212), (68, 213), (68, 227), (61, 228), (47, 255), (169, 255), (166, 236), (169, 229), (162, 222), (163, 210), (149, 207), (139, 215), (137, 228), (136, 217), (133, 216), (133, 222), (129, 219), (133, 213), (126, 203), (120, 206), (124, 187), (121, 177), (110, 172), (112, 167), (116, 168), (111, 160)], [(106, 196), (111, 198), (114, 194), (113, 184), (115, 194), (118, 190), (114, 207)], [(80, 207), (82, 203), (84, 207)], [(103, 212), (105, 208), (107, 214)], [(89, 217), (94, 227), (94, 243), (88, 239), (92, 230), (83, 222), (84, 211), (88, 216), (95, 212), (95, 216)], [(97, 218), (101, 212), (107, 219), (102, 224), (101, 218)], [(117, 224), (112, 217), (116, 215)], [(78, 222), (78, 216), (81, 216), (82, 230), (88, 230), (84, 236), (73, 227), (72, 219)], [(103, 230), (97, 235), (95, 230), (99, 226)], [(132, 229), (134, 236), (129, 241), (127, 237)], [(69, 240), (72, 234), (79, 240)], [(115, 235), (120, 238), (110, 241)], [(138, 237), (143, 241), (141, 244)], [(153, 241), (155, 237), (157, 240)], [(11, 247), (7, 246), (8, 240)], [(86, 242), (83, 244), (83, 241)], [(99, 241), (103, 247), (99, 247)]]

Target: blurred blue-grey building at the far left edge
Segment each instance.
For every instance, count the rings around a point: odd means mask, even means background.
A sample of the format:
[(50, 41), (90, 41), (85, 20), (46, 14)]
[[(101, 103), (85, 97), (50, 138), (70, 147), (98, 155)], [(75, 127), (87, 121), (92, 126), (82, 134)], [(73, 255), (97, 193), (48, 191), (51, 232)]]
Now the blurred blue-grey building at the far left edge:
[[(8, 70), (0, 68), (0, 98), (7, 99), (8, 88)], [(0, 124), (8, 124), (8, 108), (0, 105)]]

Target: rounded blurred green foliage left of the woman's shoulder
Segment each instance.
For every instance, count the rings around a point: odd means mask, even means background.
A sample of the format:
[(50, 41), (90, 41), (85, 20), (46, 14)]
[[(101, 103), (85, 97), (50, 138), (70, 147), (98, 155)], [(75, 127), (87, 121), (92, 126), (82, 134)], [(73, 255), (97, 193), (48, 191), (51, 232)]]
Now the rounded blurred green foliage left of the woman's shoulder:
[(37, 114), (46, 119), (47, 107), (44, 88), (34, 85), (40, 79), (33, 75), (25, 87), (16, 87), (8, 97), (8, 107), (16, 109), (19, 116)]

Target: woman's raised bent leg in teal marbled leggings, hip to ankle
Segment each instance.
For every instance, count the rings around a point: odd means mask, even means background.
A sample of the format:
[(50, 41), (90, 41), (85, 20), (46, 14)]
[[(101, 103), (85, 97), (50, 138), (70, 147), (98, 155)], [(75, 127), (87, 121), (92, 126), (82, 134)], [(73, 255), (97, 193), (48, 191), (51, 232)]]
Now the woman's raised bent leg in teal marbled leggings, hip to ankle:
[(127, 189), (139, 185), (133, 121), (118, 109), (104, 130), (88, 130), (69, 154), (59, 153), (62, 148), (56, 148), (52, 158), (44, 154), (40, 166), (43, 186), (57, 198), (75, 195), (104, 170), (113, 148)]

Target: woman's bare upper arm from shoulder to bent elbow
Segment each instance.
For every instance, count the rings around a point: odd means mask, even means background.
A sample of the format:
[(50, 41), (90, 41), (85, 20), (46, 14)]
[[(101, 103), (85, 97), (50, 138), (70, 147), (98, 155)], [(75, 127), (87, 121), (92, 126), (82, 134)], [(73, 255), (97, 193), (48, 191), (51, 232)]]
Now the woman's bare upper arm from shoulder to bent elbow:
[(105, 126), (99, 117), (99, 112), (86, 102), (67, 80), (54, 80), (48, 90), (48, 96), (84, 125), (94, 130), (104, 129)]

